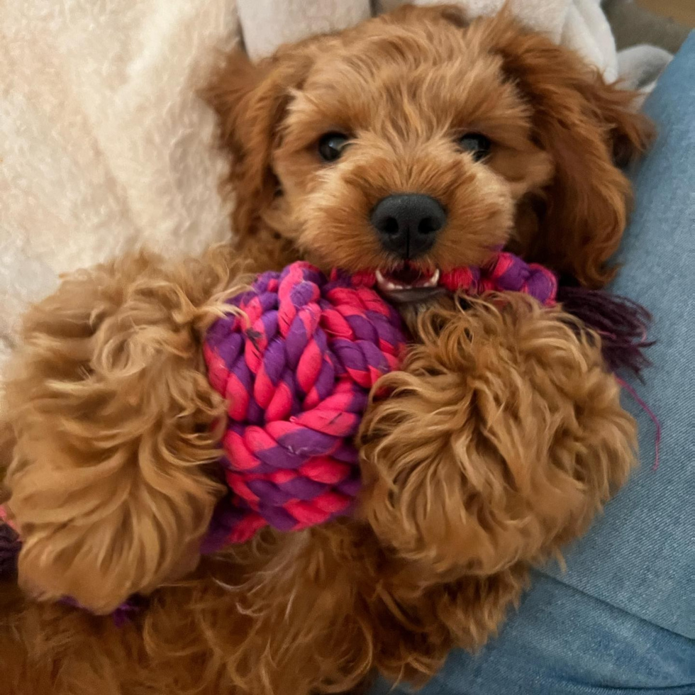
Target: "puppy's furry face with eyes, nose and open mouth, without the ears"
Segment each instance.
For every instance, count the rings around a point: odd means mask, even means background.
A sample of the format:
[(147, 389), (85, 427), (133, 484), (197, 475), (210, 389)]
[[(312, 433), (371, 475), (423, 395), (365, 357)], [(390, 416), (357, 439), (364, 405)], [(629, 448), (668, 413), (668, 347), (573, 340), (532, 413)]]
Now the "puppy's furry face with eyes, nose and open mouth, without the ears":
[(499, 55), (454, 26), (436, 44), (417, 27), (390, 29), (311, 68), (272, 167), (278, 230), (321, 264), (379, 271), (392, 289), (484, 262), (552, 160)]

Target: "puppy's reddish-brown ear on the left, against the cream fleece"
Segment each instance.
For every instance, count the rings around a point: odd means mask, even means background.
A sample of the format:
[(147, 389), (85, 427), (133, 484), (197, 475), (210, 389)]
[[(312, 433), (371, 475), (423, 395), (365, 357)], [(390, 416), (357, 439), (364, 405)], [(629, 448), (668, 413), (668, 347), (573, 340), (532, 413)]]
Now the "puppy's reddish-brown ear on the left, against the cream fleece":
[(218, 115), (222, 146), (232, 155), (228, 186), (235, 194), (233, 223), (239, 235), (255, 233), (262, 211), (272, 203), (279, 185), (272, 152), (291, 90), (301, 86), (312, 64), (308, 52), (291, 46), (258, 63), (237, 50), (226, 56), (204, 92)]

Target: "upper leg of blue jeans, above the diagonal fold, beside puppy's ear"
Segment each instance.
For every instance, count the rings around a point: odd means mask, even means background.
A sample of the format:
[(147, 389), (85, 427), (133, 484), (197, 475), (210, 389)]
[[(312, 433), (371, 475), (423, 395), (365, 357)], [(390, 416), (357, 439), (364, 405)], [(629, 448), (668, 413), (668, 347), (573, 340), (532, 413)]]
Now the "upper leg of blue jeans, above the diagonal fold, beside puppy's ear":
[(653, 367), (632, 385), (662, 424), (661, 465), (652, 471), (653, 423), (625, 394), (641, 468), (569, 553), (567, 573), (550, 573), (695, 640), (695, 33), (645, 111), (660, 136), (633, 177), (636, 206), (612, 289), (654, 316)]

